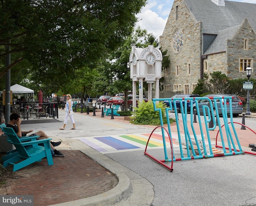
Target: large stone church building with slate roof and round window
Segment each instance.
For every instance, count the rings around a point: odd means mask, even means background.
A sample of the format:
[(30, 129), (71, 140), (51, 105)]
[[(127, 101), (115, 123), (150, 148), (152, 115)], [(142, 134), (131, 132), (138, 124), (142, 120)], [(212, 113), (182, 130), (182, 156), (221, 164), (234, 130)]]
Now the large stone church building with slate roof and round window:
[(165, 91), (192, 93), (204, 73), (230, 79), (256, 78), (256, 4), (226, 0), (174, 0), (160, 46), (170, 67), (162, 72)]

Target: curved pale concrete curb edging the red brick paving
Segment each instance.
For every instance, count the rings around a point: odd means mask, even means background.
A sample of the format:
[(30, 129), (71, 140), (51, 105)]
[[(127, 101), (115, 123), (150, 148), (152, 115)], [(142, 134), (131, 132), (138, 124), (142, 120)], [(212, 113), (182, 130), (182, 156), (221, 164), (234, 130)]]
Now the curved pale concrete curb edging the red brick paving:
[(81, 144), (78, 139), (65, 138), (64, 141), (67, 141), (73, 150), (81, 151), (115, 174), (118, 178), (118, 184), (108, 192), (52, 206), (121, 206), (130, 205), (131, 202), (140, 202), (140, 205), (150, 205), (153, 202), (154, 186), (148, 180), (88, 145)]

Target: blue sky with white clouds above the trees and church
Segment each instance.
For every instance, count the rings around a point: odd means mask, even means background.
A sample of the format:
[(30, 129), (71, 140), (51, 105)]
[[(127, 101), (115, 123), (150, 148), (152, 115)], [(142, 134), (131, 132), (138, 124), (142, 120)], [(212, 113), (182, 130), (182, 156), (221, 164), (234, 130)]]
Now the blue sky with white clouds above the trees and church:
[[(256, 4), (256, 0), (232, 1)], [(137, 15), (140, 21), (136, 26), (140, 26), (141, 29), (146, 29), (148, 33), (153, 33), (159, 40), (159, 36), (161, 36), (164, 31), (173, 2), (174, 0), (148, 0), (146, 6), (142, 8), (142, 12)]]

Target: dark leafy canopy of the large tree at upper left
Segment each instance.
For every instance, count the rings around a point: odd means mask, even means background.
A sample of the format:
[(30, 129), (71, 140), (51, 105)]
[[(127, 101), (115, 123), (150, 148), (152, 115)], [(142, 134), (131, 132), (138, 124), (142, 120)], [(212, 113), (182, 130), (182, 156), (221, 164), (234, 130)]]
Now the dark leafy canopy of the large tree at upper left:
[[(146, 0), (2, 0), (0, 78), (26, 59), (34, 81), (63, 85), (129, 36)], [(5, 46), (11, 65), (4, 67)], [(14, 55), (15, 54), (15, 55)]]

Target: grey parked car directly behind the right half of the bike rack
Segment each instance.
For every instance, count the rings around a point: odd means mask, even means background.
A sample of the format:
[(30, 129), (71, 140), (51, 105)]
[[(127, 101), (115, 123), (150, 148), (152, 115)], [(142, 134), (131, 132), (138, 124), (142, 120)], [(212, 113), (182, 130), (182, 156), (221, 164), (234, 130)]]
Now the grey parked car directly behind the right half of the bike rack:
[[(234, 94), (209, 94), (209, 95), (205, 95), (204, 97), (230, 97), (230, 96), (233, 97), (231, 100), (233, 117), (238, 117), (238, 115), (242, 114), (242, 111), (243, 111), (243, 103), (238, 98), (238, 96), (236, 96)], [(224, 99), (217, 99), (216, 102), (217, 102), (217, 107), (218, 107), (218, 113), (219, 113), (219, 115), (222, 115), (220, 103), (222, 103), (222, 105), (224, 105)], [(230, 115), (230, 106), (229, 106), (230, 99), (226, 99), (226, 104), (227, 104), (227, 113), (228, 113), (228, 115)], [(199, 109), (200, 114), (203, 113), (203, 108), (202, 108), (203, 105), (208, 106), (209, 101), (207, 99), (200, 99), (198, 101), (198, 109)], [(215, 110), (214, 104), (212, 106)], [(196, 109), (196, 104), (193, 105), (193, 111), (194, 111), (194, 109)], [(214, 112), (214, 116), (216, 116), (216, 112)]]

